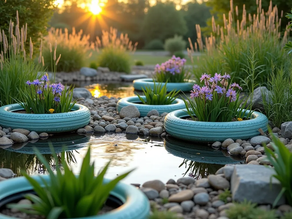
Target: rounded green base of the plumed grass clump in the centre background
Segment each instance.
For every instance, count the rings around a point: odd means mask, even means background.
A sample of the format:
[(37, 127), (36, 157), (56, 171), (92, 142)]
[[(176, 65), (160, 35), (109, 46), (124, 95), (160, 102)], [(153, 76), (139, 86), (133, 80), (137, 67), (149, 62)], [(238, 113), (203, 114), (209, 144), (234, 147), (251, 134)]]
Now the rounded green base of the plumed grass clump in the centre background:
[(131, 72), (130, 57), (121, 49), (103, 48), (98, 56), (98, 66), (108, 67), (112, 72)]

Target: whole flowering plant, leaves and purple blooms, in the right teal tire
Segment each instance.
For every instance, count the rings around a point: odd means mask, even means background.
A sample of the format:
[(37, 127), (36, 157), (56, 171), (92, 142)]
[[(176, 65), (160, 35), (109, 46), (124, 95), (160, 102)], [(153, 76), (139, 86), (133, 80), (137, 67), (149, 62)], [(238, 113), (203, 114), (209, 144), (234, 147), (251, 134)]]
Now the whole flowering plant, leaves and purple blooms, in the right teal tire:
[[(204, 81), (205, 86), (200, 87), (195, 84), (191, 91), (191, 99), (189, 101), (184, 100), (187, 113), (193, 120), (196, 118), (199, 121), (206, 122), (230, 122), (233, 118), (237, 118), (238, 121), (242, 119), (251, 118), (251, 111), (246, 115), (246, 109), (244, 109), (246, 102), (243, 102), (245, 98), (239, 99), (239, 91), (242, 88), (239, 84), (229, 83), (228, 79), (231, 76), (225, 74), (215, 73), (214, 77), (210, 74), (202, 74), (200, 80)], [(241, 106), (241, 104), (243, 105)]]

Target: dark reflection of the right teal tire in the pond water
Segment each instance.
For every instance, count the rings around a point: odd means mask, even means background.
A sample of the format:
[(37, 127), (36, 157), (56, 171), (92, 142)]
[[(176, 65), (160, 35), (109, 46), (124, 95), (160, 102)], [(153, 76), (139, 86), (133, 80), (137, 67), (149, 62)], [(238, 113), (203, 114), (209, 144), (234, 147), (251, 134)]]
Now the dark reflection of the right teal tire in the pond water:
[[(164, 140), (164, 148), (168, 153), (171, 153), (176, 157), (181, 157), (200, 163), (225, 165), (237, 164), (239, 161), (244, 160), (239, 156), (232, 156), (229, 153), (222, 153), (221, 150), (216, 150), (209, 147), (206, 143), (204, 145), (196, 144), (194, 147), (193, 143), (175, 138), (166, 138)], [(223, 150), (223, 152), (227, 152), (227, 150)]]

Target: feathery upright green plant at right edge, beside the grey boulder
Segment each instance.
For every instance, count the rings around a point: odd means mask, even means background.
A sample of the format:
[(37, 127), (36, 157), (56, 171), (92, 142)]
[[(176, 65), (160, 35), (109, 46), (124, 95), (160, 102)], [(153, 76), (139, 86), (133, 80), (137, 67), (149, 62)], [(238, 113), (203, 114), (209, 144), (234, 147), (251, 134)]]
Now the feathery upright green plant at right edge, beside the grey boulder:
[[(289, 72), (287, 75), (286, 71)], [(268, 77), (267, 91), (262, 91), (265, 114), (276, 127), (292, 120), (292, 68), (273, 65)]]

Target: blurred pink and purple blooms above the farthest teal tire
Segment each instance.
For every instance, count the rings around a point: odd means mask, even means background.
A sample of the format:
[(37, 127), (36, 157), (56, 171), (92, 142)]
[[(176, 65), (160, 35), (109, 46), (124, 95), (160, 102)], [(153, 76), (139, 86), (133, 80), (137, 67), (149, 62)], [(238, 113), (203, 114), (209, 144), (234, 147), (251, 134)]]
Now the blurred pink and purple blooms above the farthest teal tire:
[(173, 55), (171, 59), (162, 63), (161, 65), (157, 64), (155, 66), (155, 72), (171, 73), (173, 75), (180, 74), (186, 61), (187, 60), (185, 60), (184, 58), (181, 59), (180, 57), (175, 57), (175, 55)]

